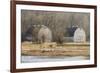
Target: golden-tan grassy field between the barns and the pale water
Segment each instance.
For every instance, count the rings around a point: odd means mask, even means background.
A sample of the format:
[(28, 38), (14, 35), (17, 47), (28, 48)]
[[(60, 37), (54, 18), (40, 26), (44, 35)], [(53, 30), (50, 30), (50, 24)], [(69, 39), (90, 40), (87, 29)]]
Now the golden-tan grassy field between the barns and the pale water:
[(89, 43), (22, 43), (22, 55), (30, 56), (89, 56)]

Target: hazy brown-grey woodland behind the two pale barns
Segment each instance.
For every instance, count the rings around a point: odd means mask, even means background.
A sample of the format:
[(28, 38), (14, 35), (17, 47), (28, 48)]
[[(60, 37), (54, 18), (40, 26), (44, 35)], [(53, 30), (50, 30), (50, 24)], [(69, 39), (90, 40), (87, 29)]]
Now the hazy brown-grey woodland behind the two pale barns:
[[(53, 41), (61, 40), (62, 37), (68, 36), (67, 28), (72, 26), (81, 27), (86, 32), (87, 41), (90, 37), (90, 14), (78, 12), (53, 12), (53, 11), (21, 11), (21, 32), (31, 34), (32, 26), (34, 28), (34, 38), (37, 39), (37, 33), (40, 29), (39, 25), (47, 26), (53, 35)], [(25, 37), (25, 36), (23, 36)]]

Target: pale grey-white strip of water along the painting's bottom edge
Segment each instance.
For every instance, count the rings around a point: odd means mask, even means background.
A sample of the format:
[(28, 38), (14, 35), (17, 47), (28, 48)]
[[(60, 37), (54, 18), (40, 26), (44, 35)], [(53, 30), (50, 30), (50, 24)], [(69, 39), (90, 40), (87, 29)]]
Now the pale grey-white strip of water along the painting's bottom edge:
[(22, 63), (89, 60), (86, 56), (22, 56)]

